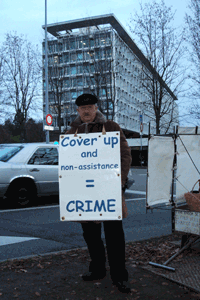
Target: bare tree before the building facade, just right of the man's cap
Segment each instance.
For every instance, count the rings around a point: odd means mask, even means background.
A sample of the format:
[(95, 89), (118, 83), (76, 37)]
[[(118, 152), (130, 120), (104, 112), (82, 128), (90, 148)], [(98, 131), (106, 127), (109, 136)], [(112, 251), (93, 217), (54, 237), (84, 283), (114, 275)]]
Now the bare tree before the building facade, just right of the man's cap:
[[(88, 50), (83, 52), (83, 74), (85, 84), (98, 99), (99, 110), (106, 119), (115, 116), (115, 72), (112, 58), (112, 32), (101, 32), (101, 40), (96, 39), (96, 31), (86, 28)], [(100, 44), (99, 44), (100, 43)]]

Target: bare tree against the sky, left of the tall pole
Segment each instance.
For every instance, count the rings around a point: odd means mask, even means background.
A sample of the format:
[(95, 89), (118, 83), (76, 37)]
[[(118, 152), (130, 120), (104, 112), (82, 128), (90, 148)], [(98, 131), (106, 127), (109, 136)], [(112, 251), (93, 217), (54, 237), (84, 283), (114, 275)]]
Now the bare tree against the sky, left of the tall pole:
[(41, 98), (41, 54), (23, 35), (18, 36), (16, 33), (6, 34), (1, 53), (1, 107), (9, 116), (21, 114), (20, 120), (25, 124), (28, 112), (39, 109), (37, 100)]

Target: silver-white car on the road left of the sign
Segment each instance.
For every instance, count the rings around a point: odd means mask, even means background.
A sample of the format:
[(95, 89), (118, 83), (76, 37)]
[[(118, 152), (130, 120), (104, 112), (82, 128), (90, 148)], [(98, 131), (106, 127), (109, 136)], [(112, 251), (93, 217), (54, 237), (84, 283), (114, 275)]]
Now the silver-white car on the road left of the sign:
[(37, 196), (58, 195), (58, 148), (53, 143), (0, 144), (3, 201), (24, 206)]

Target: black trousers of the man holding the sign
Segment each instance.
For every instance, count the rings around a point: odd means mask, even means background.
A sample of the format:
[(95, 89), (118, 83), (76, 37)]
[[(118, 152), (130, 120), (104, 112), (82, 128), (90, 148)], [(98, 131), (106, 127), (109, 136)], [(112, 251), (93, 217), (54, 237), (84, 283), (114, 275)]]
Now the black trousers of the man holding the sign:
[[(125, 239), (122, 221), (104, 221), (107, 256), (110, 266), (110, 275), (113, 281), (128, 280), (125, 267)], [(105, 270), (106, 255), (104, 243), (101, 239), (101, 223), (92, 221), (81, 223), (83, 237), (88, 246), (91, 263), (90, 272), (99, 273)]]

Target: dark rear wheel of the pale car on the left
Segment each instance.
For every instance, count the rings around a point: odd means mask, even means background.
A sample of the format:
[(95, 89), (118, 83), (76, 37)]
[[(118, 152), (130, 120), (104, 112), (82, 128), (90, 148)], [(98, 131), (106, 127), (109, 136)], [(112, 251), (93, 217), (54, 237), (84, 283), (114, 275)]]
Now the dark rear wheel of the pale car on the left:
[(8, 197), (17, 207), (30, 206), (36, 197), (35, 186), (30, 181), (15, 182), (10, 186)]

